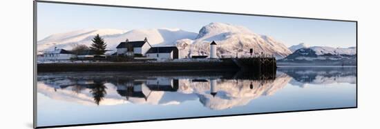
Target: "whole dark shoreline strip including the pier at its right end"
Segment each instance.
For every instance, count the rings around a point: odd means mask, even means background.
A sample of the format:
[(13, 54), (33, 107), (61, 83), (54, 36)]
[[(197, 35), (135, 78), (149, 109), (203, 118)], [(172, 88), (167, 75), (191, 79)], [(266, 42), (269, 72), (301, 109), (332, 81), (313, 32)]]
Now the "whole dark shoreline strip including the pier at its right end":
[(276, 70), (274, 58), (218, 59), (209, 61), (138, 61), (91, 63), (38, 63), (37, 72), (170, 71), (170, 70)]

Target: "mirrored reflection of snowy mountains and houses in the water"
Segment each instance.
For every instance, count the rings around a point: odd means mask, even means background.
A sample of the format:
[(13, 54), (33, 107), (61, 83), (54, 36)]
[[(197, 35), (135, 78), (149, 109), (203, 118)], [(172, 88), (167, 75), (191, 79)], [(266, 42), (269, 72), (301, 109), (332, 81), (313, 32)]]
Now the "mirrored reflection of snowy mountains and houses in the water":
[(123, 103), (173, 105), (199, 100), (212, 110), (245, 106), (274, 95), (287, 83), (356, 83), (356, 68), (278, 68), (253, 72), (65, 72), (37, 76), (37, 91), (50, 99), (87, 106)]

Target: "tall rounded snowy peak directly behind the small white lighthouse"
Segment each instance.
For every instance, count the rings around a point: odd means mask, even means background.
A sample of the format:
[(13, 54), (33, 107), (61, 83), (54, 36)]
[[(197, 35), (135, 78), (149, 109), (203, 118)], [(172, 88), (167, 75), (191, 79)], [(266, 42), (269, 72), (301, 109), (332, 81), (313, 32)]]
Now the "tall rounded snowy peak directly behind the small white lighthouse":
[(209, 43), (216, 41), (218, 57), (236, 57), (236, 52), (249, 55), (249, 49), (254, 52), (274, 54), (277, 58), (286, 57), (291, 51), (272, 37), (252, 32), (243, 26), (234, 26), (227, 23), (209, 23), (200, 29), (196, 39), (177, 41), (180, 56), (209, 55)]

